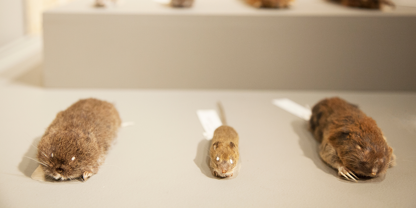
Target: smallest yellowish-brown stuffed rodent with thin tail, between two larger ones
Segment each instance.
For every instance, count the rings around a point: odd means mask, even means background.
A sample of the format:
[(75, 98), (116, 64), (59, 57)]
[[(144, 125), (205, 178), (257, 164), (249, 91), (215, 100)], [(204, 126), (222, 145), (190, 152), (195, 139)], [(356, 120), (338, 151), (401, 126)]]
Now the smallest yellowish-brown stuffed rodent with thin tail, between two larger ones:
[(238, 162), (238, 134), (233, 127), (227, 126), (225, 114), (220, 103), (220, 117), (223, 126), (214, 131), (211, 140), (210, 166), (213, 169), (213, 175), (221, 178), (233, 176), (233, 172)]

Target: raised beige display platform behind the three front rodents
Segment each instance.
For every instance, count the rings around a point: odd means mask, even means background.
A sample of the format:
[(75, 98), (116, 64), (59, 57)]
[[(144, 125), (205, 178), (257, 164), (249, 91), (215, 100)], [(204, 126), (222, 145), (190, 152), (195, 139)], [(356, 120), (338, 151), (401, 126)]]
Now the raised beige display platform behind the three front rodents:
[[(403, 1), (404, 2), (404, 1)], [(46, 87), (416, 90), (416, 7), (196, 0), (44, 13)]]

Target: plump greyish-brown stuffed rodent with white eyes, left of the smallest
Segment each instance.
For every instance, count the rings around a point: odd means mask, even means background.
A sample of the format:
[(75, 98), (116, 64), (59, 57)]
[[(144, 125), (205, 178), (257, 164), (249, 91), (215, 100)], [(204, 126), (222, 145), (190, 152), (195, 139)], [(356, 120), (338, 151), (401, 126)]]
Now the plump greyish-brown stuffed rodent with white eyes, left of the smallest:
[(45, 176), (87, 180), (104, 162), (120, 124), (113, 104), (93, 98), (59, 112), (37, 146)]

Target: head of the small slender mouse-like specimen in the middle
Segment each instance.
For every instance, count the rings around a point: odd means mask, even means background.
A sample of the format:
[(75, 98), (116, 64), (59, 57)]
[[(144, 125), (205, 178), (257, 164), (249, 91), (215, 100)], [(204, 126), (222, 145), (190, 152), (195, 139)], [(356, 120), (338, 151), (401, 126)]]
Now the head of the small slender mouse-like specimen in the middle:
[(215, 176), (222, 178), (233, 176), (238, 162), (238, 147), (232, 141), (215, 142), (211, 146), (210, 156), (210, 166)]

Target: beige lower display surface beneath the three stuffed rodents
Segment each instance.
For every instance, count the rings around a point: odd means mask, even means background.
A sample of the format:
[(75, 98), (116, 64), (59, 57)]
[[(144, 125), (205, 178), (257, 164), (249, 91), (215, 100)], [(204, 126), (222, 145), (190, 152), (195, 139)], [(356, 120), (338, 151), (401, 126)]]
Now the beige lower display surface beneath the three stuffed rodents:
[[(272, 105), (312, 106), (339, 96), (373, 117), (394, 148), (385, 177), (353, 183), (318, 156), (307, 123)], [(0, 207), (415, 207), (416, 93), (0, 87)], [(78, 99), (115, 104), (123, 122), (105, 163), (87, 182), (30, 178), (36, 141)], [(240, 136), (238, 176), (214, 178), (196, 116), (221, 101)]]

